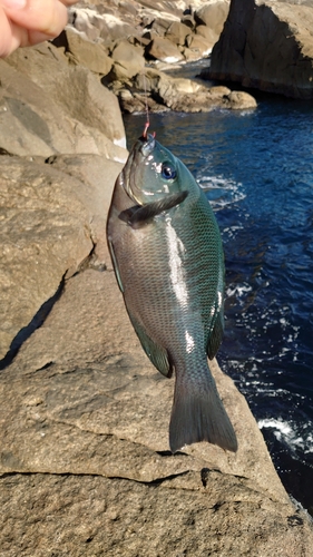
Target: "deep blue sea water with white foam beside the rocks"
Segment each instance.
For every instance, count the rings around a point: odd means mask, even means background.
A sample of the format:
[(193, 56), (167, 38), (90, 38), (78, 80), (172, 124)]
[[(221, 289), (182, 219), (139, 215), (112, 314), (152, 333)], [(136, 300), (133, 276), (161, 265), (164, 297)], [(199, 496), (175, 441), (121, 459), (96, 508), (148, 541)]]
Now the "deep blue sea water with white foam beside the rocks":
[[(218, 361), (245, 394), (286, 490), (313, 512), (313, 106), (151, 115), (207, 192), (223, 234)], [(125, 118), (128, 146), (144, 116)]]

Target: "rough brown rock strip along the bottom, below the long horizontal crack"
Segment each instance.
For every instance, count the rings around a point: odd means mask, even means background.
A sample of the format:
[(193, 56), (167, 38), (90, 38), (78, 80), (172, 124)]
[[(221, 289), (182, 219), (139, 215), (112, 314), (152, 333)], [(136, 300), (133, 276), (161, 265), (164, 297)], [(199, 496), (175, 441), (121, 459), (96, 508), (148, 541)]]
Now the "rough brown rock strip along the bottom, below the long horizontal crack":
[[(196, 490), (70, 473), (14, 473), (0, 481), (3, 555), (310, 556), (310, 527), (301, 512), (241, 500), (215, 506), (200, 483)], [(233, 488), (233, 499), (239, 491)], [(231, 520), (236, 515), (241, 524)]]

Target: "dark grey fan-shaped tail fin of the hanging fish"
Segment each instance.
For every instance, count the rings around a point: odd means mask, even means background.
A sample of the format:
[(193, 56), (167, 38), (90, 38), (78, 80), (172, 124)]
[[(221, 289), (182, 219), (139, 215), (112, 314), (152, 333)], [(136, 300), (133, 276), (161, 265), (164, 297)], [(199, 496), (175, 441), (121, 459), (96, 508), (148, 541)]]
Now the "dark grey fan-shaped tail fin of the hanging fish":
[(176, 373), (169, 447), (176, 452), (198, 441), (237, 450), (236, 433), (208, 368), (200, 377)]

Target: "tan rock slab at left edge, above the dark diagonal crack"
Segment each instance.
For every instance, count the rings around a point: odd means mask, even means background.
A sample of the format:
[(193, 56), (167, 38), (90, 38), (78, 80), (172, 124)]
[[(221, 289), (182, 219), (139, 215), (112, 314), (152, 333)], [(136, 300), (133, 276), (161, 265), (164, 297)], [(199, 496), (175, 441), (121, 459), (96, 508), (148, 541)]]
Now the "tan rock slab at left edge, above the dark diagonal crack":
[(14, 157), (1, 157), (0, 165), (2, 360), (65, 274), (88, 256), (92, 243), (72, 182)]

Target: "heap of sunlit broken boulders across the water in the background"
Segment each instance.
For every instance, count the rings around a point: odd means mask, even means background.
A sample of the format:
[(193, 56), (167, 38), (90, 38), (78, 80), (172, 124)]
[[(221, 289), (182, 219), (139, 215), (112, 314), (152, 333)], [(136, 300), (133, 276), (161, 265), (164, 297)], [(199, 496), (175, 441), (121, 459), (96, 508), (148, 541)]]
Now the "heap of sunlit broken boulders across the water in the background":
[[(71, 9), (71, 25), (53, 41), (70, 63), (85, 66), (119, 99), (124, 113), (199, 113), (214, 108), (255, 108), (247, 92), (207, 87), (168, 75), (174, 63), (207, 57), (223, 29), (229, 1), (175, 2), (156, 9), (155, 2), (80, 2)], [(184, 3), (184, 2), (183, 2)], [(118, 17), (117, 17), (118, 16)]]

